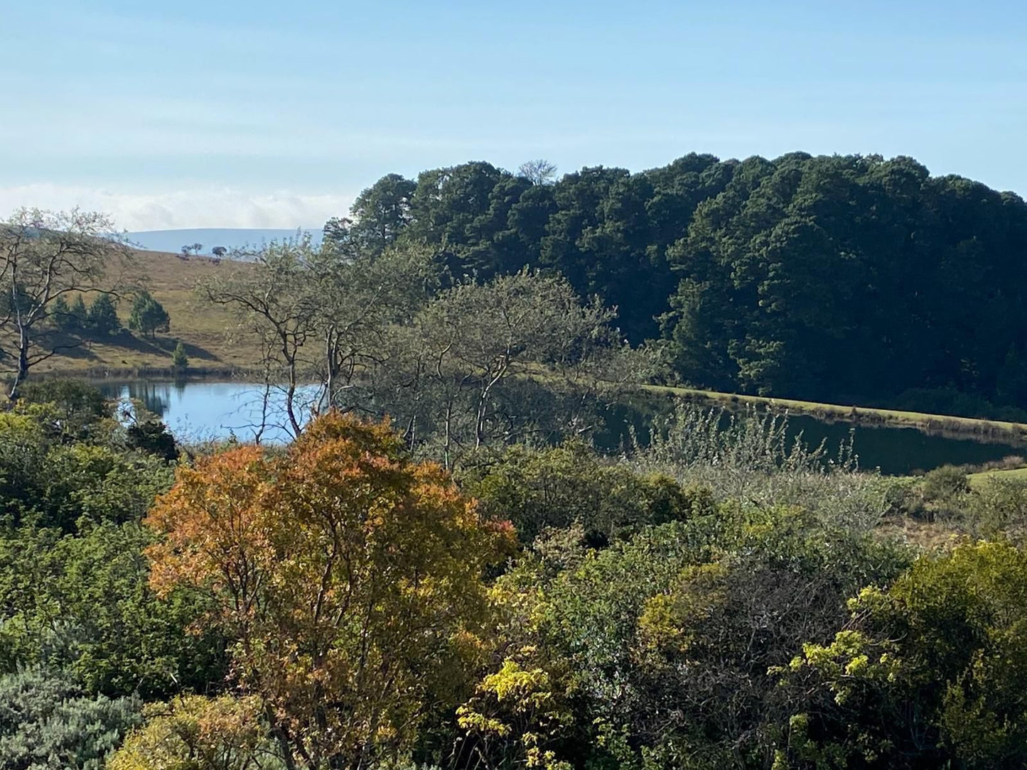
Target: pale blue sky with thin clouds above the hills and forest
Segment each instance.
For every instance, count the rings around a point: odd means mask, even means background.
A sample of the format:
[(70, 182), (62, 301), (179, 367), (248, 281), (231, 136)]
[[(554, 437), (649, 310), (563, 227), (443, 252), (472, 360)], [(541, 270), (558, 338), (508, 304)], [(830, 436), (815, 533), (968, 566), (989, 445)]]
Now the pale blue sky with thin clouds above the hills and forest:
[(319, 226), (383, 174), (912, 155), (1027, 195), (1027, 6), (4, 0), (0, 216)]

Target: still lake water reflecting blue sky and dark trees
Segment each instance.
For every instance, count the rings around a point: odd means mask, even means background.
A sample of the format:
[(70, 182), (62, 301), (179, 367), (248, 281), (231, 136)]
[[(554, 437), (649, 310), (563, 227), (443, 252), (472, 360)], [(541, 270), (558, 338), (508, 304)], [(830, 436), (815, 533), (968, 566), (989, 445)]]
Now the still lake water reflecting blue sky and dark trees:
[[(244, 382), (115, 381), (97, 383), (109, 398), (136, 398), (158, 415), (181, 440), (206, 440), (235, 435), (239, 440), (254, 437), (260, 423), (263, 387)], [(315, 389), (306, 388), (302, 399), (314, 397)], [(270, 414), (276, 416), (263, 434), (265, 441), (287, 441), (291, 437), (281, 419), (280, 407), (284, 395), (270, 393)], [(597, 444), (615, 449), (631, 423), (644, 427), (655, 410), (637, 407), (616, 409), (607, 417), (608, 429), (597, 436)], [(307, 413), (308, 414), (308, 413)], [(827, 423), (813, 417), (789, 418), (789, 432), (802, 432), (810, 445), (827, 440), (829, 454), (836, 454), (839, 444), (847, 440), (852, 426), (847, 423)], [(1007, 444), (985, 444), (972, 438), (928, 435), (915, 428), (874, 427), (860, 425), (854, 430), (855, 453), (861, 468), (880, 468), (882, 473), (904, 475), (914, 470), (930, 470), (946, 463), (953, 465), (981, 464), (1001, 460), (1010, 455), (1027, 454), (1027, 449)]]

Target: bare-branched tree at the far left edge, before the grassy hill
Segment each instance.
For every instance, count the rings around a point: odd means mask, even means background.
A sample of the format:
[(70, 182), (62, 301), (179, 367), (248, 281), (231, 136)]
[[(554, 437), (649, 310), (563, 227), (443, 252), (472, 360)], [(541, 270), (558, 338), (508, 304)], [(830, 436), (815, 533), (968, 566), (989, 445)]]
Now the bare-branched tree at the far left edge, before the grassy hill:
[(11, 374), (11, 400), (34, 365), (82, 344), (59, 342), (58, 300), (116, 294), (130, 259), (125, 238), (101, 214), (23, 208), (0, 222), (0, 367)]

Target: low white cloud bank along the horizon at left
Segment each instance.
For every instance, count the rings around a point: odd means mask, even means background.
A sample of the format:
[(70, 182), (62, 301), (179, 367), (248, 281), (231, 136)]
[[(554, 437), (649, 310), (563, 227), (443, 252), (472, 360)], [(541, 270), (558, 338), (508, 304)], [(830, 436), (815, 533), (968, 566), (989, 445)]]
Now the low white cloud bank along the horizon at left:
[(353, 195), (310, 195), (276, 190), (253, 193), (236, 188), (197, 188), (159, 193), (125, 193), (90, 187), (31, 184), (0, 187), (0, 217), (22, 206), (104, 211), (124, 230), (199, 227), (319, 228), (345, 214)]

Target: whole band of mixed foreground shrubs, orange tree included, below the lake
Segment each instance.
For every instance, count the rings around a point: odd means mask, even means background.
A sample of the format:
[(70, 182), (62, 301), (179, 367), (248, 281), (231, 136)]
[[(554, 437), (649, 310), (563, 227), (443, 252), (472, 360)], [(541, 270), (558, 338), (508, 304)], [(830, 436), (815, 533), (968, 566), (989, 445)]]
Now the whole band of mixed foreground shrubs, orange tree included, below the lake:
[(0, 767), (1023, 764), (1021, 483), (687, 405), (452, 471), (338, 412), (174, 451), (78, 383), (0, 417)]

